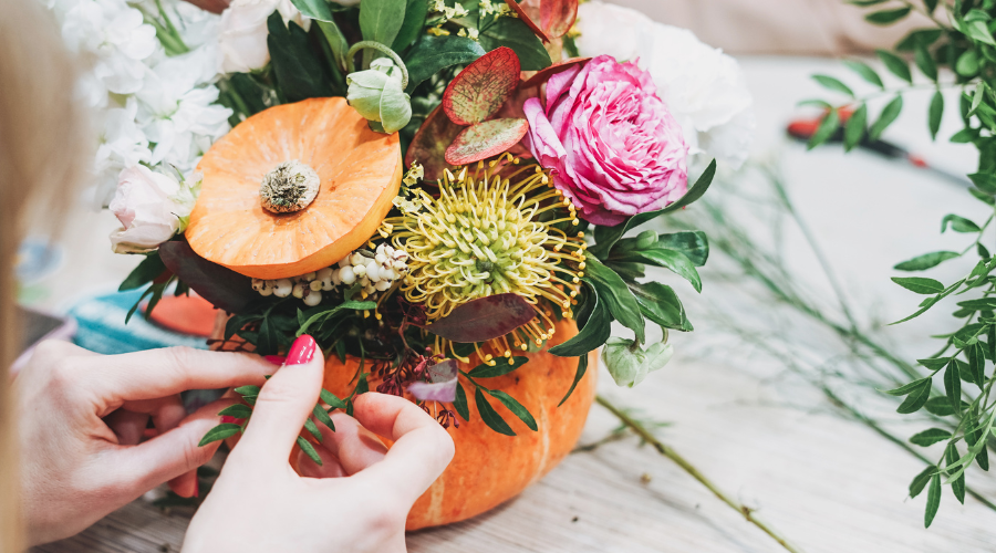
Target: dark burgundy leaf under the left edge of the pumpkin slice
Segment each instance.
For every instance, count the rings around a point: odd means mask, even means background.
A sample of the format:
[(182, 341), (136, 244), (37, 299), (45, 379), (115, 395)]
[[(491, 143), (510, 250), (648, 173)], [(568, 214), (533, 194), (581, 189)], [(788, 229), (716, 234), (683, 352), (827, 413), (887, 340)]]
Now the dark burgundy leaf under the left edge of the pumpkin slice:
[(179, 280), (219, 310), (239, 313), (259, 298), (249, 276), (201, 258), (186, 240), (159, 246), (159, 258)]

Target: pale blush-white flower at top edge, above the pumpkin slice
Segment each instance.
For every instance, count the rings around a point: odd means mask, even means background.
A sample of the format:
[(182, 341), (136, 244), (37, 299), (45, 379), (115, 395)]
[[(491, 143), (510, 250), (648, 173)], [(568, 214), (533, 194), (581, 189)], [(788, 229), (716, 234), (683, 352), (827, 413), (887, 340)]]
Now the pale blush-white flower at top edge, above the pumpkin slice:
[(221, 13), (222, 71), (248, 73), (270, 61), (267, 18), (273, 10), (280, 11), (284, 24), (294, 21), (308, 29), (301, 12), (290, 0), (234, 0)]

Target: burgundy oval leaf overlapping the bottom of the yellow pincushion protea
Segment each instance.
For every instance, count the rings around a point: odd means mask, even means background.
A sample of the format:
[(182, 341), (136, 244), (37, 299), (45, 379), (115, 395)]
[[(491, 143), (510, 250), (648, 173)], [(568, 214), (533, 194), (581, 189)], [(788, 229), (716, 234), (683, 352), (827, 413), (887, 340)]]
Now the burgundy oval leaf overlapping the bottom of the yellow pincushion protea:
[(425, 330), (453, 342), (485, 342), (505, 336), (533, 317), (536, 310), (521, 295), (496, 294), (467, 302)]

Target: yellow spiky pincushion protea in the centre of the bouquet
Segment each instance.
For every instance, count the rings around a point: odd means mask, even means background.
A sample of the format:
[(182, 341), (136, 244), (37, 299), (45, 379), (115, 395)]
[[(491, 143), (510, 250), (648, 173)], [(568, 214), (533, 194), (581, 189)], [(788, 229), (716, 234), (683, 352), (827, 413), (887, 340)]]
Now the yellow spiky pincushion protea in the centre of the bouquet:
[(413, 189), (415, 201), (383, 227), (409, 257), (401, 291), (425, 306), (429, 321), (494, 294), (515, 293), (536, 306), (538, 319), (491, 344), (506, 356), (511, 347), (526, 349), (521, 338), (539, 345), (553, 334), (547, 305), (571, 316), (585, 248), (583, 233), (571, 237), (556, 227), (579, 221), (549, 174), (526, 166), (502, 178), (509, 163), (518, 159), (506, 155), (487, 169), (478, 163), (473, 171), (456, 169), (456, 176), (444, 171), (438, 197)]

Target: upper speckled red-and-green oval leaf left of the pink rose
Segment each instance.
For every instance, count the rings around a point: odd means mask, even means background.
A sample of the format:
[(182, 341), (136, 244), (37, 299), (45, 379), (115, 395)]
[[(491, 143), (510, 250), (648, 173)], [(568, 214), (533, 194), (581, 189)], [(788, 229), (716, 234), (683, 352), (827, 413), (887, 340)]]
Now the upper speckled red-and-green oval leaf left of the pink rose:
[(443, 109), (457, 125), (486, 121), (501, 108), (519, 84), (519, 56), (497, 48), (467, 65), (443, 93)]

